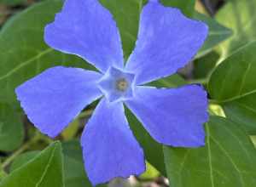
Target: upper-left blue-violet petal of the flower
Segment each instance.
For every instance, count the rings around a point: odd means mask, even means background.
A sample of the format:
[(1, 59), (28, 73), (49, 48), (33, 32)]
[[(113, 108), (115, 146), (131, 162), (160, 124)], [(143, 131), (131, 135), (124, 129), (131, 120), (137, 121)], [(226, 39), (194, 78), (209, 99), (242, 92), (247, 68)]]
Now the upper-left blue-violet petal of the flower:
[(107, 71), (110, 65), (123, 68), (123, 50), (112, 15), (97, 0), (66, 0), (55, 21), (45, 27), (50, 47), (77, 54)]

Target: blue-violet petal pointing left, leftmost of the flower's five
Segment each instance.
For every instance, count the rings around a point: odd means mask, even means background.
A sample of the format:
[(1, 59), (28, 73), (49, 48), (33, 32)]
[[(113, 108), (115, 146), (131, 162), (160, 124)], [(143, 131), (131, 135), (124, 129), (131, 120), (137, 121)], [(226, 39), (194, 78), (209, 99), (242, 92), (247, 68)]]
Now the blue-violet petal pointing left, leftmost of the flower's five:
[(102, 93), (95, 71), (57, 66), (16, 88), (21, 106), (42, 133), (54, 138), (79, 112)]

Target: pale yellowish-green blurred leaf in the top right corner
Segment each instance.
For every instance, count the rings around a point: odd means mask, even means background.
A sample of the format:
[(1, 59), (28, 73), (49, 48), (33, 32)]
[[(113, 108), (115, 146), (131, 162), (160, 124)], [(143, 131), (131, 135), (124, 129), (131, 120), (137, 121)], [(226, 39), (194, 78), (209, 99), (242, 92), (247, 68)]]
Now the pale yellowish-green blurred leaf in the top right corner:
[(221, 45), (223, 57), (256, 39), (256, 0), (230, 0), (221, 8), (216, 18), (234, 31), (234, 35)]

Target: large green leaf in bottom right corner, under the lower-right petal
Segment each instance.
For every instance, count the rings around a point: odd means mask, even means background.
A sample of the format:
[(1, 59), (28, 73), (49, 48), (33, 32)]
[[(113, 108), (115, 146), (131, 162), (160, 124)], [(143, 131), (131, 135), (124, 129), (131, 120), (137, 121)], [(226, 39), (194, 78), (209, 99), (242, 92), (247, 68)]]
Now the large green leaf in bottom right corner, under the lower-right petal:
[(175, 187), (254, 187), (256, 150), (246, 133), (223, 117), (206, 124), (201, 148), (165, 147), (167, 176)]

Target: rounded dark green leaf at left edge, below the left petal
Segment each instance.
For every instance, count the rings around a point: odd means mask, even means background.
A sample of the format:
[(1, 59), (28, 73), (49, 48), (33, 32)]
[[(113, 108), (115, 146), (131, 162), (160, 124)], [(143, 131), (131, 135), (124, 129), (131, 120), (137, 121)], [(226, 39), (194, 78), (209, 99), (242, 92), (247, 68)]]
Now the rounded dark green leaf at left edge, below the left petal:
[(0, 150), (18, 148), (24, 138), (21, 117), (8, 105), (0, 103)]

